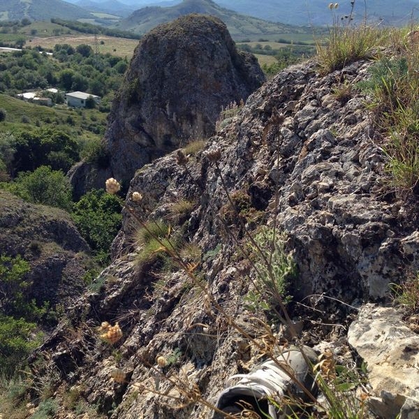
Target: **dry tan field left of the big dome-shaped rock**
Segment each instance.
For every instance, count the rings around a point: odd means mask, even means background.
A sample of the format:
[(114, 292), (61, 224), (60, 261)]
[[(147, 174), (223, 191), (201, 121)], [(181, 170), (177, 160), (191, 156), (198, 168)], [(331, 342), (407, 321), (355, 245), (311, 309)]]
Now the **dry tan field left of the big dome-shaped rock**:
[[(98, 35), (98, 50), (101, 54), (117, 55), (118, 57), (132, 57), (135, 47), (138, 45), (136, 39), (114, 38), (112, 36)], [(64, 35), (64, 36), (49, 36), (48, 38), (34, 37), (27, 45), (31, 47), (41, 46), (45, 49), (52, 49), (56, 44), (68, 43), (73, 47), (80, 44), (87, 44), (94, 47), (95, 38), (93, 35)]]

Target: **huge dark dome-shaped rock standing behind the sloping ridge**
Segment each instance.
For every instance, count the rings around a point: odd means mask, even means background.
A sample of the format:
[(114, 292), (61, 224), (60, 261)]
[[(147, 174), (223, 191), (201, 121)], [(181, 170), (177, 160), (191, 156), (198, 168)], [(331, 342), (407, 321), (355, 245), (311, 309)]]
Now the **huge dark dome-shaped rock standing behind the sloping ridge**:
[(214, 133), (221, 107), (245, 101), (265, 80), (237, 52), (216, 17), (188, 15), (156, 27), (136, 47), (109, 116), (113, 176), (126, 184), (156, 157)]

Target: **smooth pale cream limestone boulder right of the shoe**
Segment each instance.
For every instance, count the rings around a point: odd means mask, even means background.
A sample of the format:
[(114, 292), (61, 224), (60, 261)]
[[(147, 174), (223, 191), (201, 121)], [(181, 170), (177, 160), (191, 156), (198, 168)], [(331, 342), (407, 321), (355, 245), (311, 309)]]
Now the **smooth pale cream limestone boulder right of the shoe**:
[[(367, 362), (377, 396), (370, 404), (384, 418), (419, 417), (419, 335), (391, 307), (367, 304), (348, 330), (348, 342)], [(413, 416), (412, 416), (413, 415)], [(416, 416), (415, 416), (416, 415)]]

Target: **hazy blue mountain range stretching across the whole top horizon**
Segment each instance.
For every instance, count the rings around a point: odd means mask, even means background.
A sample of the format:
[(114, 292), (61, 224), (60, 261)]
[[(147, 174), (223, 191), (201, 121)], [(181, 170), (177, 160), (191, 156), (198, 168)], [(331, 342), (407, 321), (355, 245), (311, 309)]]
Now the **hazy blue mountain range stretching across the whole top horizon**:
[[(164, 17), (158, 16), (160, 13), (177, 17), (179, 12), (172, 9), (173, 7), (179, 7), (177, 10), (188, 9), (189, 3), (194, 2), (199, 8), (200, 1), (186, 1), (187, 4), (184, 5), (185, 1), (180, 0), (1, 0), (0, 21), (21, 20), (23, 17), (29, 17), (31, 20), (59, 17), (65, 20), (82, 19), (94, 22), (98, 17), (97, 13), (109, 13), (121, 18), (128, 17), (126, 23), (142, 32), (147, 27), (154, 27), (166, 21)], [(230, 13), (235, 11), (270, 22), (303, 26), (332, 24), (334, 20), (339, 20), (339, 17), (351, 13), (349, 0), (339, 3), (339, 8), (334, 10), (329, 10), (326, 0), (264, 0), (263, 7), (253, 0), (215, 0), (214, 5), (227, 8)], [(418, 6), (419, 0), (368, 0), (366, 3), (355, 0), (353, 16), (360, 21), (367, 15), (368, 20), (374, 24), (382, 22), (400, 26), (411, 22), (412, 17), (416, 20)], [(154, 9), (153, 12), (149, 7), (159, 9)], [(148, 10), (142, 10), (143, 8)], [(154, 22), (145, 24), (142, 22), (145, 16)], [(135, 22), (136, 19), (139, 19), (138, 22)], [(237, 25), (240, 25), (240, 22), (237, 22)]]

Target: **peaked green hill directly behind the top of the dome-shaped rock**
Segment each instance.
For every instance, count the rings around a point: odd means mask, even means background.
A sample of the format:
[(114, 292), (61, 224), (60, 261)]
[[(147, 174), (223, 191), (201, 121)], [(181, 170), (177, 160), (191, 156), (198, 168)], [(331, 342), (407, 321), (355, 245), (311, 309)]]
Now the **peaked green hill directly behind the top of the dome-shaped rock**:
[(228, 31), (236, 41), (244, 38), (253, 40), (272, 38), (279, 34), (303, 31), (302, 28), (291, 25), (267, 22), (256, 17), (240, 15), (233, 10), (221, 8), (212, 0), (183, 0), (182, 3), (170, 7), (150, 6), (141, 8), (115, 24), (115, 27), (145, 34), (158, 24), (170, 22), (189, 13), (219, 17), (227, 25)]

